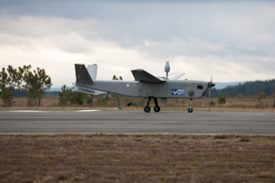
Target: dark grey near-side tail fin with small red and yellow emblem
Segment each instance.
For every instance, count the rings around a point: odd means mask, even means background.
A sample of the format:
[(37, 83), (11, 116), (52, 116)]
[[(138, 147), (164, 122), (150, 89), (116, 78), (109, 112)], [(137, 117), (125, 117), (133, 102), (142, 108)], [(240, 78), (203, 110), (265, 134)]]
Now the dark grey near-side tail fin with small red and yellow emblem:
[(92, 80), (89, 72), (87, 71), (84, 64), (75, 64), (75, 75), (76, 84), (80, 85), (92, 85), (94, 81)]

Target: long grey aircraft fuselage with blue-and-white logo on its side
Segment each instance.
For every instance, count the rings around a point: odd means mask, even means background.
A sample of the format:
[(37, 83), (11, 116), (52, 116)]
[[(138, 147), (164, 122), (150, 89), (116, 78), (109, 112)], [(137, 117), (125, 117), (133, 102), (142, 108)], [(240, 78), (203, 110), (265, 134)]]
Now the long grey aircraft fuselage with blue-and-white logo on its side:
[(152, 83), (141, 81), (101, 81), (96, 80), (91, 85), (77, 84), (79, 91), (101, 90), (117, 93), (129, 97), (147, 98), (201, 98), (208, 90), (208, 82), (193, 80), (167, 80), (166, 82)]

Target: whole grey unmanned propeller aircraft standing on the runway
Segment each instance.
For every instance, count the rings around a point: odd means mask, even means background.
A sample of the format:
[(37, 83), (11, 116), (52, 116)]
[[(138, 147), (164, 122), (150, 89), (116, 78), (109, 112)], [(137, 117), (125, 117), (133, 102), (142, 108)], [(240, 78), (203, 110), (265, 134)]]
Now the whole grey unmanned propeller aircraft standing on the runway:
[[(184, 75), (178, 72), (168, 75), (170, 71), (169, 62), (166, 62), (164, 71), (166, 77), (156, 77), (143, 69), (132, 70), (134, 81), (123, 80), (96, 80), (97, 64), (88, 65), (75, 64), (76, 91), (98, 95), (103, 93), (117, 93), (129, 97), (147, 98), (145, 112), (150, 112), (151, 99), (155, 102), (154, 111), (160, 112), (157, 98), (161, 98), (161, 104), (167, 104), (167, 98), (190, 98), (188, 112), (193, 112), (193, 98), (202, 98), (211, 87), (215, 86), (211, 81), (177, 80)], [(209, 91), (209, 93), (210, 93)], [(128, 106), (131, 103), (128, 104)]]

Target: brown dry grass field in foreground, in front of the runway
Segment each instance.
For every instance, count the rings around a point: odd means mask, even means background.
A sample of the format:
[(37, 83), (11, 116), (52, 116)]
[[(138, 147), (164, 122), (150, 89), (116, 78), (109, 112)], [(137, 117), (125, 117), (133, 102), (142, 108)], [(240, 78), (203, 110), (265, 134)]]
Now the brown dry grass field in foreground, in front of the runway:
[(275, 182), (275, 137), (0, 135), (0, 182)]

